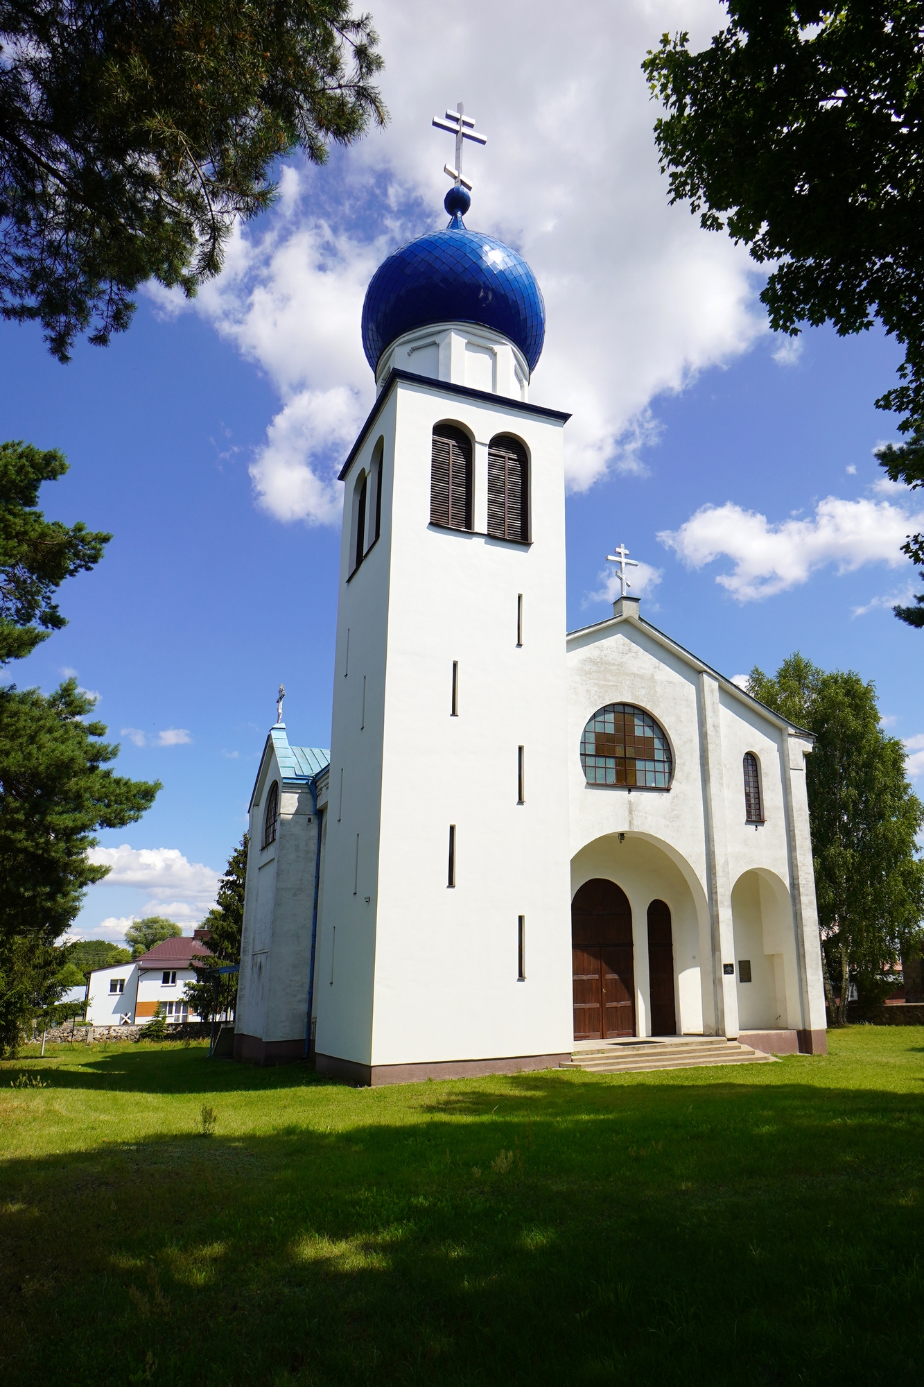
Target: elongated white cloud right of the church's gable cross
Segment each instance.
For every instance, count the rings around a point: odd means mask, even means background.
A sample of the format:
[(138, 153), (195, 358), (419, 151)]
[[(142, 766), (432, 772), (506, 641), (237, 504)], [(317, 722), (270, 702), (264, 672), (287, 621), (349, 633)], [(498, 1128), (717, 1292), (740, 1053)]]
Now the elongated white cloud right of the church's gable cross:
[(900, 545), (923, 523), (924, 515), (909, 515), (888, 501), (825, 497), (810, 519), (770, 524), (759, 512), (727, 501), (702, 506), (678, 530), (662, 530), (658, 538), (690, 569), (719, 558), (734, 560), (734, 570), (720, 573), (716, 583), (738, 602), (756, 602), (799, 587), (828, 563), (838, 573), (867, 563), (900, 567), (907, 563)]

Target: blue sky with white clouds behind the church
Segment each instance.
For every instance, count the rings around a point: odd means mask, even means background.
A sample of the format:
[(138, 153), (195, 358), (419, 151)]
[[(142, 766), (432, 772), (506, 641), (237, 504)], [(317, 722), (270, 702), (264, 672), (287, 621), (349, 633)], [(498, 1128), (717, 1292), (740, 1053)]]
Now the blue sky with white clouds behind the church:
[[(709, 7), (691, 8), (709, 24)], [(623, 46), (635, 71), (638, 26), (656, 36), (667, 25), (628, 10), (635, 28)], [(454, 104), (468, 78), (476, 94), (484, 87), (477, 108), (466, 101), (479, 123), (502, 135), (513, 121), (490, 74), (476, 80), (466, 69), (465, 44), (448, 89), (427, 79), (402, 101), (415, 51), (405, 53), (400, 7), (376, 18), (386, 51), (391, 42), (398, 54), (386, 83), (390, 130), (320, 172), (290, 161), (279, 209), (236, 240), (229, 275), (196, 311), (144, 295), (126, 334), (107, 350), (79, 345), (68, 366), (37, 329), (0, 326), (3, 437), (61, 448), (71, 472), (46, 485), (46, 513), (114, 534), (99, 569), (62, 588), (69, 626), (11, 678), (47, 691), (76, 671), (122, 745), (118, 770), (164, 782), (139, 824), (101, 835), (115, 871), (89, 892), (82, 935), (118, 938), (142, 913), (185, 928), (201, 918), (246, 828), (280, 680), (291, 739), (329, 743), (332, 476), (372, 393), (362, 288), (394, 244), (443, 222), (438, 169), (450, 151), (430, 137), (429, 115)], [(415, 43), (436, 46), (438, 32)], [(559, 151), (556, 212), (542, 221), (548, 194), (530, 201), (523, 151), (502, 139), (494, 164), (491, 143), (477, 155), (483, 201), (476, 183), (468, 218), (515, 240), (547, 294), (533, 398), (574, 412), (569, 624), (606, 613), (604, 559), (624, 541), (655, 570), (642, 592), (649, 620), (731, 675), (774, 669), (796, 648), (859, 670), (875, 680), (887, 725), (910, 741), (910, 767), (924, 777), (924, 632), (888, 609), (912, 577), (888, 562), (900, 542), (892, 535), (902, 510), (923, 508), (882, 488), (871, 451), (895, 437), (873, 399), (899, 352), (878, 331), (839, 340), (825, 329), (796, 354), (780, 351), (746, 261), (667, 209), (644, 96), (627, 108), (631, 137), (619, 126), (613, 148), (595, 154), (622, 160), (612, 234), (574, 250), (574, 227), (599, 203), (599, 169), (572, 168)], [(115, 854), (119, 845), (128, 850)]]

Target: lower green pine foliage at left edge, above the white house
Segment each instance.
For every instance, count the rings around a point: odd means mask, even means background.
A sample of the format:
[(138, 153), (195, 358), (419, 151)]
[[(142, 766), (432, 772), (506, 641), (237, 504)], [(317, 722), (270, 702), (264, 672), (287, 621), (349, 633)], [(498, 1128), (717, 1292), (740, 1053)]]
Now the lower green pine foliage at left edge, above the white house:
[(94, 831), (140, 818), (160, 789), (108, 768), (118, 746), (92, 712), (75, 680), (47, 696), (0, 688), (0, 938), (62, 935), (108, 871), (87, 860)]

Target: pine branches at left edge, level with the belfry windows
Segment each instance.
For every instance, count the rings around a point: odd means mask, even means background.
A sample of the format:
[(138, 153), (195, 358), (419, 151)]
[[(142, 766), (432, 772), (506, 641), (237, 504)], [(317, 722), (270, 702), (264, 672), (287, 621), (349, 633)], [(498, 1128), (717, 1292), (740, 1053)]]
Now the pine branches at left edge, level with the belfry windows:
[(46, 520), (37, 509), (42, 483), (67, 470), (55, 449), (0, 444), (0, 664), (24, 659), (67, 626), (51, 594), (65, 578), (97, 565), (112, 538), (79, 520), (71, 528)]

